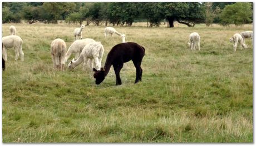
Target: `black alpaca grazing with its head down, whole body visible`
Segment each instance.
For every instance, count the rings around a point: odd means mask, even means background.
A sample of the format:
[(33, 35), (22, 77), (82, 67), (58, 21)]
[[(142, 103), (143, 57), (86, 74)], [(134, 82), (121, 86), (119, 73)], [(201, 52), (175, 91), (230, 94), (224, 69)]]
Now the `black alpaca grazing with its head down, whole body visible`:
[(95, 83), (100, 84), (109, 73), (110, 67), (113, 66), (116, 74), (116, 85), (121, 85), (120, 71), (124, 66), (125, 62), (132, 60), (136, 68), (136, 79), (135, 83), (141, 81), (142, 68), (140, 67), (142, 58), (145, 55), (145, 48), (140, 46), (137, 43), (127, 42), (120, 43), (114, 46), (109, 54), (107, 54), (107, 59), (105, 62), (104, 68), (101, 68), (100, 71), (95, 71), (93, 77), (96, 78)]

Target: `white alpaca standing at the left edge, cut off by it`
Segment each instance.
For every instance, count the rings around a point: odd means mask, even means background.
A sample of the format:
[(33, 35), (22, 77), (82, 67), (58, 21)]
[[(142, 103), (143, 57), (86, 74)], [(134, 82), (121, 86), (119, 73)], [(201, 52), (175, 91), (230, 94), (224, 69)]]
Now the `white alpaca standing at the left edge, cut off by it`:
[(22, 39), (19, 36), (6, 36), (2, 38), (3, 43), (3, 59), (7, 62), (7, 50), (8, 48), (14, 48), (15, 61), (17, 61), (19, 54), (21, 55), (21, 61), (24, 61), (24, 53), (22, 51)]

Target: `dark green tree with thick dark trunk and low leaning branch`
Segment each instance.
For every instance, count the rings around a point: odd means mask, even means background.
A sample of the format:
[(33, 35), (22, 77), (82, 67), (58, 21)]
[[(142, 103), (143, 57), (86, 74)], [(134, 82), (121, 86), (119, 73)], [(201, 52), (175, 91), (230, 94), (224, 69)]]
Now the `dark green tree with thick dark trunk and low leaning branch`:
[(203, 21), (200, 3), (164, 3), (165, 18), (168, 27), (174, 27), (174, 21), (193, 27), (196, 22)]

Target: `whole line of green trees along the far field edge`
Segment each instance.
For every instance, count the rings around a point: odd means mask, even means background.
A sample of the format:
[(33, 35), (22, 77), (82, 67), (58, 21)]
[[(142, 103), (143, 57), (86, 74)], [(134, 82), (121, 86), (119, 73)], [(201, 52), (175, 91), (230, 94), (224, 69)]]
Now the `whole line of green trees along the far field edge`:
[(193, 27), (196, 23), (210, 26), (220, 23), (243, 25), (252, 23), (253, 3), (198, 3), (198, 2), (110, 2), (110, 3), (70, 3), (70, 2), (3, 2), (3, 23), (19, 23), (25, 20), (57, 23), (93, 23), (96, 26), (132, 26), (138, 20), (147, 22), (148, 27), (157, 27), (164, 20), (168, 27), (174, 21)]

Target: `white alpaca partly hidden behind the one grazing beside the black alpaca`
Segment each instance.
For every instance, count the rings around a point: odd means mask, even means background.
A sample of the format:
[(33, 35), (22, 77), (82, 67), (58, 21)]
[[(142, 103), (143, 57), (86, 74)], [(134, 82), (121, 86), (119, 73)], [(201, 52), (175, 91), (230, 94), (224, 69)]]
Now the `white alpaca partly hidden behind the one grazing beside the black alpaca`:
[(95, 41), (91, 38), (78, 39), (75, 42), (73, 42), (71, 44), (70, 48), (68, 48), (68, 50), (67, 50), (66, 57), (65, 57), (65, 63), (67, 62), (67, 59), (70, 58), (72, 53), (76, 54), (75, 59), (77, 59), (79, 57), (80, 53), (82, 52), (83, 48), (86, 46), (86, 44), (92, 43), (92, 42), (95, 42)]

